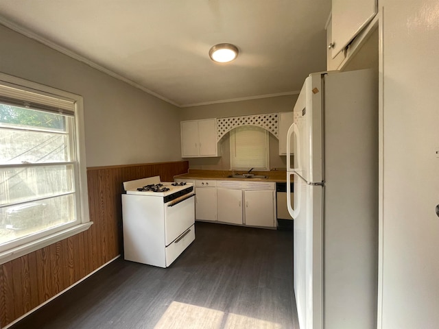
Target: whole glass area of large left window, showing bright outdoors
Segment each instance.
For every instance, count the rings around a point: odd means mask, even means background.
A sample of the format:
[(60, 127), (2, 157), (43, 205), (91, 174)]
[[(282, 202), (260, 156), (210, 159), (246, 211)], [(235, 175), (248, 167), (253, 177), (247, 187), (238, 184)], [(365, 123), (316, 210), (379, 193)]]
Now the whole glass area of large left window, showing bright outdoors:
[(0, 104), (0, 245), (75, 220), (71, 121)]

